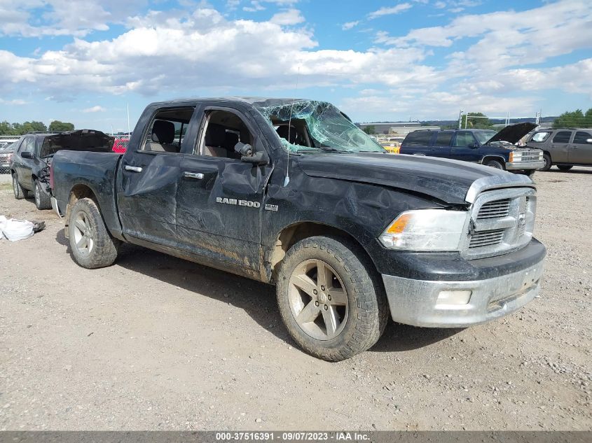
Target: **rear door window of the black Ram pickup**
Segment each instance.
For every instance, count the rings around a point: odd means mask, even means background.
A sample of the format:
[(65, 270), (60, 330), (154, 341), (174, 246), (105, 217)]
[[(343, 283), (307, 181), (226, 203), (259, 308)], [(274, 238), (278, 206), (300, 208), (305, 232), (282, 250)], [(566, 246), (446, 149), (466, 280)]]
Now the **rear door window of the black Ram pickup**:
[(186, 106), (158, 111), (144, 134), (140, 150), (179, 153), (194, 109), (193, 106)]

